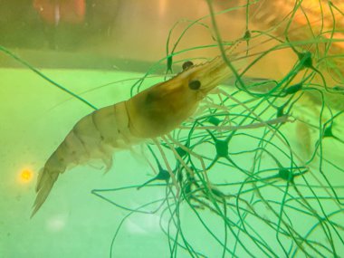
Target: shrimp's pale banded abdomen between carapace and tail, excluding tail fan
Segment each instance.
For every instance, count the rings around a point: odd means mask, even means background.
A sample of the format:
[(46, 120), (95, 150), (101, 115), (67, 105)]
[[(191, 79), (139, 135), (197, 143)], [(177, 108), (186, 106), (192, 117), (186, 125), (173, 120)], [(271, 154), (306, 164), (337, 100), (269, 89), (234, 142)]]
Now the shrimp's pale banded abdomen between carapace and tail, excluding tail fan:
[(67, 135), (59, 148), (66, 165), (80, 165), (100, 158), (109, 164), (113, 149), (129, 148), (137, 143), (129, 131), (125, 102), (96, 110), (82, 118)]

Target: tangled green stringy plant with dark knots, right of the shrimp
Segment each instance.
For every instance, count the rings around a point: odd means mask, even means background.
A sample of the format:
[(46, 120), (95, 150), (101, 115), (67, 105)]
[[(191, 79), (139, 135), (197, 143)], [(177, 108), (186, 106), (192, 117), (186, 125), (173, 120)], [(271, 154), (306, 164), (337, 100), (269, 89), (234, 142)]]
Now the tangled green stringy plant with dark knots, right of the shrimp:
[[(330, 53), (331, 43), (338, 42), (333, 36), (336, 27), (293, 41), (294, 15), (304, 12), (302, 1), (295, 1), (293, 12), (283, 19), (282, 34), (275, 33), (280, 24), (251, 31), (252, 8), (260, 1), (242, 2), (215, 13), (214, 3), (208, 0), (209, 15), (178, 22), (167, 38), (167, 57), (132, 86), (135, 95), (162, 65), (167, 80), (183, 63), (206, 62), (205, 58), (192, 62), (178, 58), (205, 48), (218, 47), (234, 74), (200, 103), (192, 118), (167, 136), (148, 141), (147, 158), (157, 170), (155, 177), (138, 186), (92, 191), (128, 212), (113, 236), (110, 257), (116, 257), (121, 226), (136, 214), (160, 217), (169, 248), (165, 256), (170, 257), (339, 257), (344, 252), (344, 162), (333, 155), (344, 150), (340, 128), (344, 80), (339, 66), (344, 56)], [(339, 6), (329, 3), (332, 12), (343, 16)], [(243, 36), (224, 41), (216, 17), (238, 10), (246, 20)], [(320, 24), (324, 20), (322, 16)], [(186, 28), (171, 48), (173, 30), (181, 24)], [(177, 52), (178, 43), (194, 26), (208, 30), (214, 43)], [(313, 26), (306, 24), (310, 30)], [(332, 36), (322, 36), (325, 33)], [(235, 50), (243, 43), (244, 50)], [(269, 48), (258, 49), (262, 44)], [(228, 48), (232, 55), (227, 54)], [(265, 56), (284, 49), (291, 50), (296, 61), (282, 78), (247, 76)], [(239, 69), (243, 60), (246, 64)], [(333, 151), (333, 146), (339, 151)], [(108, 196), (148, 188), (164, 189), (165, 196), (138, 207), (121, 205)]]

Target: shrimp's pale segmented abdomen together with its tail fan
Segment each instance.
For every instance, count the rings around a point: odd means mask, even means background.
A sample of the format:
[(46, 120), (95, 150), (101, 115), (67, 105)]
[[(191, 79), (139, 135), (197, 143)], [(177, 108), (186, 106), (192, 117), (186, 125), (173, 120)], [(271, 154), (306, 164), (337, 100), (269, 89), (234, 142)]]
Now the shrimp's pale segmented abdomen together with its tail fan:
[(143, 139), (132, 136), (126, 101), (93, 111), (79, 120), (48, 158), (37, 180), (33, 214), (43, 205), (60, 174), (93, 159), (101, 159), (109, 170), (116, 149), (130, 148)]

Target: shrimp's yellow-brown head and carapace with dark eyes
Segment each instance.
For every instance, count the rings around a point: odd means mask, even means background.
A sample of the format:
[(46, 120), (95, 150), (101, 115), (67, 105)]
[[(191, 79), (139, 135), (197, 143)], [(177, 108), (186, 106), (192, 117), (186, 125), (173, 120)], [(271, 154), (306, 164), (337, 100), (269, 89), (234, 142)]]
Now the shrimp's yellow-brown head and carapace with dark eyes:
[(196, 110), (199, 100), (230, 75), (220, 57), (189, 65), (174, 78), (141, 91), (128, 100), (130, 131), (139, 138), (156, 138), (176, 129)]

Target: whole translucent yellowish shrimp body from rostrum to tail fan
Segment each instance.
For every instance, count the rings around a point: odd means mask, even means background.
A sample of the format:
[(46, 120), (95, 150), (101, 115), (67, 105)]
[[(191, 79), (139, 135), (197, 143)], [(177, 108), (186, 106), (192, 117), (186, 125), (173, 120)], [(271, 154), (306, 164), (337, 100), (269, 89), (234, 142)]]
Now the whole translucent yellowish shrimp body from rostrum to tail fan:
[(198, 102), (230, 74), (221, 57), (199, 65), (190, 63), (172, 79), (79, 120), (40, 172), (32, 216), (67, 168), (102, 159), (109, 169), (115, 148), (129, 148), (176, 129), (194, 113)]

